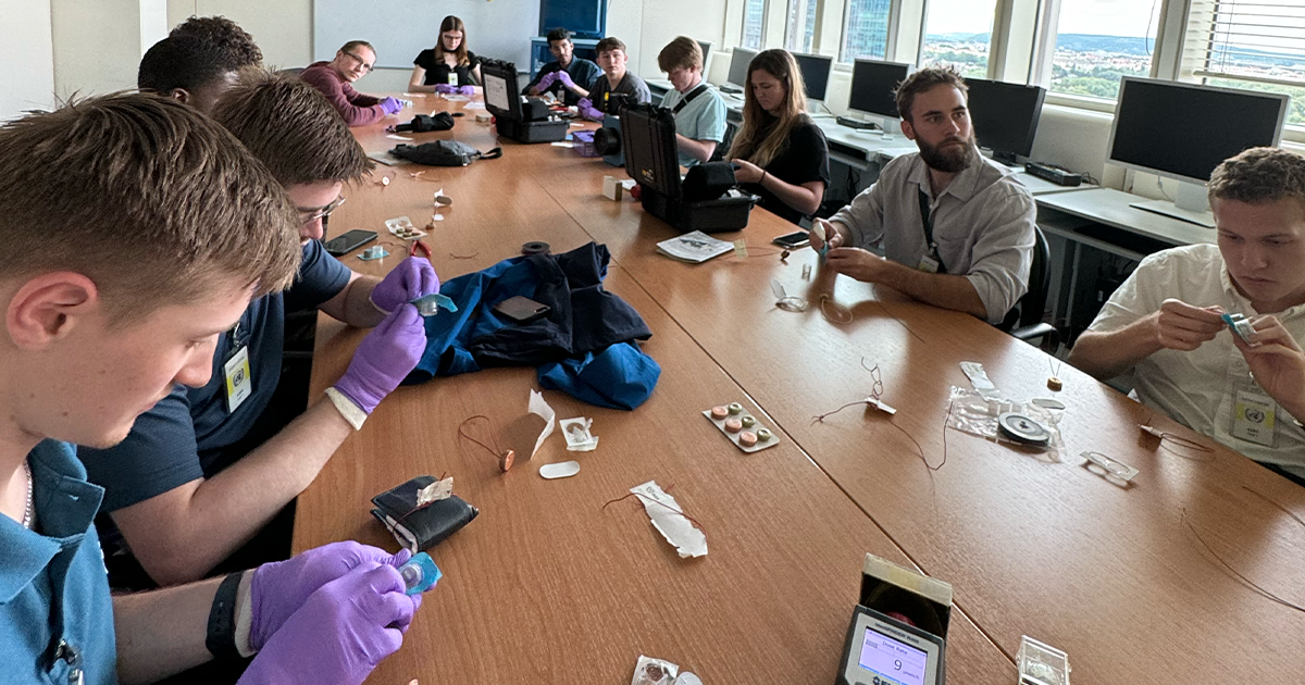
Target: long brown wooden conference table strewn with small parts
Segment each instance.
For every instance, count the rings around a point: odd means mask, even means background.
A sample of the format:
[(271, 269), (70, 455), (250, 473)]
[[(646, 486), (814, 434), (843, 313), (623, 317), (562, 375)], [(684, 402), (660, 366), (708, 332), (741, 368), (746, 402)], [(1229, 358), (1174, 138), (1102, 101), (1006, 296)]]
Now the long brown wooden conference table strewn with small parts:
[[(427, 98), (416, 107), (459, 106)], [(368, 151), (398, 142), (382, 125), (355, 129)], [(471, 116), (416, 136), (449, 137), (496, 145)], [(422, 226), (442, 188), (454, 205), (427, 241), (445, 278), (514, 256), (527, 240), (555, 252), (604, 243), (613, 254), (607, 287), (643, 314), (654, 331), (645, 350), (663, 374), (633, 412), (545, 393), (559, 418), (592, 416), (600, 446), (568, 453), (551, 437), (534, 463), (506, 475), (457, 427), (482, 414), (510, 434), (538, 386), (534, 369), (401, 389), (345, 442), (299, 498), (296, 549), (339, 539), (393, 549), (368, 500), (414, 475), (449, 472), (482, 509), (433, 551), (448, 577), (371, 682), (622, 682), (639, 654), (709, 684), (831, 682), (864, 552), (954, 585), (953, 682), (1014, 682), (1022, 634), (1065, 648), (1075, 684), (1298, 681), (1305, 615), (1218, 560), (1305, 603), (1305, 530), (1263, 498), (1305, 511), (1298, 487), (1218, 445), (1161, 448), (1138, 424), (1210, 441), (977, 320), (834, 278), (809, 249), (780, 261), (769, 240), (791, 226), (763, 210), (746, 231), (720, 236), (746, 237), (752, 257), (697, 266), (662, 257), (654, 245), (675, 231), (629, 200), (599, 194), (603, 175), (622, 171), (568, 149), (501, 142), (502, 159), (466, 168), (380, 167), (376, 177), (392, 183), (346, 190), (331, 234), (385, 235), (382, 221), (403, 214)], [(397, 261), (346, 257), (376, 274)], [(808, 299), (808, 311), (776, 309), (771, 279)], [(827, 321), (822, 295), (853, 320)], [(361, 335), (322, 320), (315, 397)], [(968, 388), (963, 360), (981, 361), (1009, 397), (1066, 404), (1061, 462), (954, 429), (944, 437), (949, 388)], [(867, 397), (876, 365), (895, 416), (856, 406), (812, 421)], [(1045, 388), (1053, 371), (1061, 393)], [(780, 445), (745, 455), (698, 416), (729, 401), (760, 411)], [(907, 433), (933, 466), (946, 450), (945, 466), (925, 468)], [(1138, 467), (1134, 485), (1082, 468), (1086, 450)], [(581, 463), (576, 478), (535, 474), (570, 458)], [(706, 557), (679, 558), (633, 498), (603, 509), (650, 479), (673, 484), (701, 522)]]

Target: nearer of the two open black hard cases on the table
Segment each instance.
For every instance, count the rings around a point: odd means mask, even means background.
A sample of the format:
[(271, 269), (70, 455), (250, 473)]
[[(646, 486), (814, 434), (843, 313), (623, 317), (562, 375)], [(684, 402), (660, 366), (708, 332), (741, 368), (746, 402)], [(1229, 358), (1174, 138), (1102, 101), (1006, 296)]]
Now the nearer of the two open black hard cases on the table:
[(671, 110), (626, 107), (621, 112), (621, 146), (625, 172), (638, 181), (639, 200), (649, 214), (683, 232), (719, 234), (748, 226), (757, 196), (735, 188), (715, 200), (685, 200)]

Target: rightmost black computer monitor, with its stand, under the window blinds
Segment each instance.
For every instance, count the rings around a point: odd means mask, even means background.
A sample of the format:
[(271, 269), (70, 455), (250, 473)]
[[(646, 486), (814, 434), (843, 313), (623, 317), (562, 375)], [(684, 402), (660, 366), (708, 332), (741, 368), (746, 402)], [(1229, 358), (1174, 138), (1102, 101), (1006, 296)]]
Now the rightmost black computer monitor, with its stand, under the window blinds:
[(1248, 147), (1276, 146), (1291, 98), (1272, 93), (1124, 77), (1107, 159), (1177, 179), (1173, 202), (1131, 206), (1214, 228), (1206, 181)]

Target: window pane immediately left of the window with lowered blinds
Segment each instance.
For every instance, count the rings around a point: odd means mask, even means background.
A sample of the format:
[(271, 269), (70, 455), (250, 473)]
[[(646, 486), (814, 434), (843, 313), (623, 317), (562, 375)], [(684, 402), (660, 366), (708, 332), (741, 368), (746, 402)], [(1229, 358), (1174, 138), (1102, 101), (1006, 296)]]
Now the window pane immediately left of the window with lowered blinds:
[(1159, 1), (1061, 0), (1052, 91), (1113, 100), (1120, 78), (1151, 73), (1159, 26)]

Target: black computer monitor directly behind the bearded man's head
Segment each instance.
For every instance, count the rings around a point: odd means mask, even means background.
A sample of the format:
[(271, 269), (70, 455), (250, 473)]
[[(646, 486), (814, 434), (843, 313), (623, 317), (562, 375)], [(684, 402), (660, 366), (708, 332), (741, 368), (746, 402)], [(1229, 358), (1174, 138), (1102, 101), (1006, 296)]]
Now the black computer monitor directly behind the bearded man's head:
[(990, 149), (993, 159), (1006, 164), (1014, 164), (1017, 155), (1028, 157), (1047, 89), (987, 78), (966, 78), (966, 86), (979, 146)]

